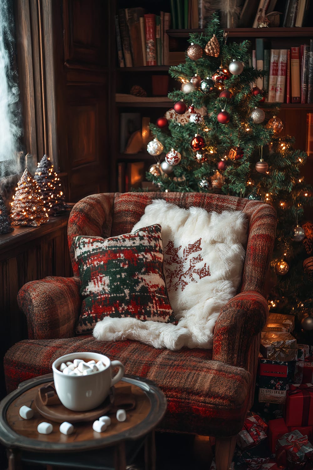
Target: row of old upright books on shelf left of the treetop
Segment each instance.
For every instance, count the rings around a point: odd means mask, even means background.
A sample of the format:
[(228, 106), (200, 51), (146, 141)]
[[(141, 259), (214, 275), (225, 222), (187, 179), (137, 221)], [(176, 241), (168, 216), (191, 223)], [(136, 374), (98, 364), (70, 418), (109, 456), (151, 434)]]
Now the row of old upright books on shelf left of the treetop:
[(171, 15), (145, 14), (144, 8), (123, 8), (115, 16), (120, 67), (169, 65), (168, 35)]

